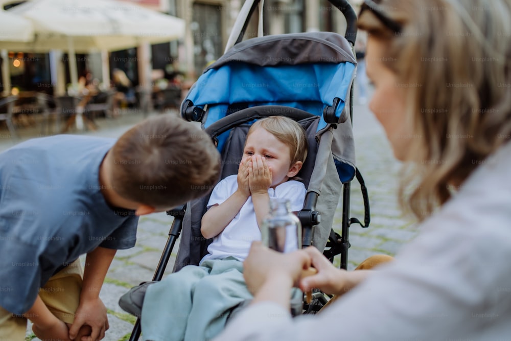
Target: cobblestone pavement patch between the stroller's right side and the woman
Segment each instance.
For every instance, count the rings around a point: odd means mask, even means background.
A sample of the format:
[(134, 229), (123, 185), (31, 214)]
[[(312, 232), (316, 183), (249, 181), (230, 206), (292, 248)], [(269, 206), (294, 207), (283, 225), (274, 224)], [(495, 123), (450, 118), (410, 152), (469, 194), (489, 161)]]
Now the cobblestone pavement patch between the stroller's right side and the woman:
[[(397, 181), (401, 165), (393, 157), (383, 128), (366, 105), (355, 105), (353, 121), (356, 163), (369, 193), (371, 222), (367, 229), (358, 224), (350, 228), (349, 270), (371, 255), (395, 255), (403, 243), (417, 234), (416, 225), (399, 209)], [(351, 188), (350, 216), (361, 221), (363, 218), (363, 200), (356, 180)], [(338, 206), (334, 230), (340, 224)]]

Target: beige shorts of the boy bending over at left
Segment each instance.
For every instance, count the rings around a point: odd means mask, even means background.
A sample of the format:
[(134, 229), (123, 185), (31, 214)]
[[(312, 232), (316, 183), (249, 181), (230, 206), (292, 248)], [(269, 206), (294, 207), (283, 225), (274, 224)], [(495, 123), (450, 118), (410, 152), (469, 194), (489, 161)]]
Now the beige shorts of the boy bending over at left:
[[(80, 303), (82, 290), (82, 266), (77, 259), (69, 264), (39, 289), (39, 296), (59, 320), (73, 323)], [(27, 316), (30, 319), (30, 316)], [(27, 319), (0, 307), (0, 341), (24, 341)]]

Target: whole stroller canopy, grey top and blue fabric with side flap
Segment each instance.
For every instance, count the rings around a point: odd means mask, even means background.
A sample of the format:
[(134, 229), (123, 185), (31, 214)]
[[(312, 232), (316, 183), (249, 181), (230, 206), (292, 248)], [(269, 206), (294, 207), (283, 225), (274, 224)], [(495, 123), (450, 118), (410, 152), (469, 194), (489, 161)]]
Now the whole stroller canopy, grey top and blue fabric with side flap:
[[(253, 38), (236, 44), (210, 65), (190, 89), (183, 106), (193, 103), (207, 112), (203, 128), (248, 107), (294, 107), (319, 117), (316, 131), (319, 139), (331, 123), (342, 122), (355, 65), (349, 43), (336, 33)], [(335, 122), (327, 122), (323, 117), (324, 110), (330, 107)], [(339, 129), (343, 126), (346, 127)], [(343, 132), (339, 141), (333, 144), (332, 153), (344, 183), (355, 174), (351, 122), (339, 124), (336, 130)], [(219, 151), (222, 151), (228, 133), (218, 137)], [(350, 140), (351, 146), (345, 143), (346, 140)], [(340, 152), (336, 152), (337, 149)]]

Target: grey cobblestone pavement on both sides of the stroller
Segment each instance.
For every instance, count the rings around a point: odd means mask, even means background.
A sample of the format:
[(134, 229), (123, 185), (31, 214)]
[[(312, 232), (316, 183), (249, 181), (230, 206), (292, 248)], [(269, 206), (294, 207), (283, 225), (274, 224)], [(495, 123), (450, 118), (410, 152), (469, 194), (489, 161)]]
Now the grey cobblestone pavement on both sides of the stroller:
[[(132, 117), (107, 122), (99, 131), (89, 134), (118, 137), (140, 119), (141, 117)], [(400, 165), (393, 158), (385, 134), (367, 109), (367, 105), (355, 106), (354, 133), (357, 166), (365, 178), (369, 191), (371, 224), (368, 229), (362, 229), (359, 225), (351, 227), (349, 269), (353, 269), (370, 255), (396, 254), (404, 242), (416, 235), (414, 224), (401, 216), (397, 204), (396, 180)], [(0, 150), (8, 148), (9, 145), (9, 142), (0, 142)], [(351, 216), (361, 220), (363, 218), (363, 201), (356, 181), (352, 185)], [(125, 340), (129, 337), (135, 319), (119, 307), (119, 297), (132, 286), (152, 279), (171, 223), (172, 217), (165, 213), (141, 217), (136, 246), (119, 251), (115, 256), (101, 292), (110, 323), (110, 329), (105, 336), (106, 341)], [(340, 224), (339, 205), (334, 218), (334, 229), (340, 228)], [(167, 273), (172, 269), (176, 251), (168, 265)], [(27, 339), (37, 340), (30, 326), (27, 330)]]

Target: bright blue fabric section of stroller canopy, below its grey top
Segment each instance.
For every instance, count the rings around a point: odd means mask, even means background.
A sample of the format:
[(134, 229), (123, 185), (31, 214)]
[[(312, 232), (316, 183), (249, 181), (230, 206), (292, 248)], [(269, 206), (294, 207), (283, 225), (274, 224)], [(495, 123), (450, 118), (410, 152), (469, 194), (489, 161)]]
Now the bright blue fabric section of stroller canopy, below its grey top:
[(308, 111), (321, 116), (318, 129), (322, 129), (327, 126), (323, 109), (332, 106), (336, 97), (341, 100), (336, 110), (340, 117), (354, 69), (351, 63), (259, 66), (233, 62), (206, 71), (188, 99), (199, 106), (216, 104), (208, 110), (206, 128), (227, 116), (231, 105), (246, 103), (246, 107), (278, 104)]

